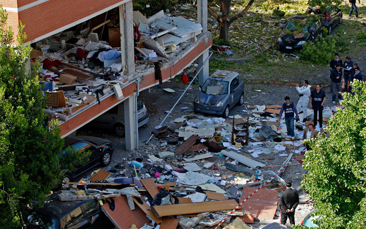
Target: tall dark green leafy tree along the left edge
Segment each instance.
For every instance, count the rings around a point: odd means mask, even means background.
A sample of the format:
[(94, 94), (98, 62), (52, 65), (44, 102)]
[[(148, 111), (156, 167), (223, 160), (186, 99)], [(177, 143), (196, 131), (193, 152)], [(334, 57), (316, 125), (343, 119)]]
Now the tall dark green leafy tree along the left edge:
[(14, 34), (6, 21), (0, 6), (1, 229), (19, 228), (28, 209), (42, 203), (58, 184), (61, 169), (71, 169), (69, 162), (81, 156), (74, 151), (58, 156), (63, 140), (58, 123), (47, 124), (38, 66), (33, 72), (27, 68), (31, 47), (24, 44), (24, 25), (19, 23), (18, 44), (12, 45)]

